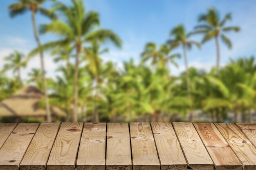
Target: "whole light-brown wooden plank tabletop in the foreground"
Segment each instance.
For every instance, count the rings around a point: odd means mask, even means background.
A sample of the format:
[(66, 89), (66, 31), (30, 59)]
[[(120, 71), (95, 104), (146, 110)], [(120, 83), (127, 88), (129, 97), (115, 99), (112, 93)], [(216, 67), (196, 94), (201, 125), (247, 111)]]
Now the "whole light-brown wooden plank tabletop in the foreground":
[(255, 123), (0, 123), (0, 170), (256, 170)]

